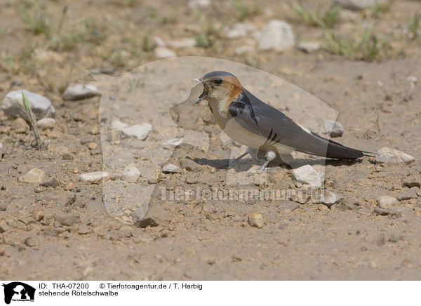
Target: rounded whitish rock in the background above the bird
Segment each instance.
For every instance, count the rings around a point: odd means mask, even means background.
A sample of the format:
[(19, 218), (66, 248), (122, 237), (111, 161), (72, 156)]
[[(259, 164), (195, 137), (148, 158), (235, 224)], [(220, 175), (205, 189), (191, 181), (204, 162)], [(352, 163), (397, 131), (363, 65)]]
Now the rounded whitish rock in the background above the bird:
[(283, 51), (295, 45), (293, 29), (283, 20), (271, 20), (260, 31), (258, 48)]

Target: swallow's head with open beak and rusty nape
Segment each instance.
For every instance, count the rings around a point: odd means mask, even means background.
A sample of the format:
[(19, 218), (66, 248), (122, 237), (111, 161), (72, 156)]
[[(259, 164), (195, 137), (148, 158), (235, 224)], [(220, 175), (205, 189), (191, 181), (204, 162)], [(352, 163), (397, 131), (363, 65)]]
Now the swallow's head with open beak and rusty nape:
[(208, 100), (210, 103), (220, 103), (233, 100), (243, 90), (239, 80), (229, 72), (213, 71), (196, 79), (203, 84), (203, 93), (196, 100)]

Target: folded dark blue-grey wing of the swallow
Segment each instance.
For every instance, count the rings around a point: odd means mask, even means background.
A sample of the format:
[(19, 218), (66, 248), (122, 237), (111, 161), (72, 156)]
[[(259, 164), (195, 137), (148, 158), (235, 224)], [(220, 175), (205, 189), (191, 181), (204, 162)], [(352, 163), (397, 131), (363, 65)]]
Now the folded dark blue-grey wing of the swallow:
[(243, 128), (267, 139), (264, 144), (267, 146), (279, 142), (299, 152), (335, 159), (356, 159), (364, 155), (358, 149), (345, 147), (316, 133), (308, 133), (278, 109), (260, 101), (246, 89), (243, 89), (241, 98), (229, 105), (229, 112)]

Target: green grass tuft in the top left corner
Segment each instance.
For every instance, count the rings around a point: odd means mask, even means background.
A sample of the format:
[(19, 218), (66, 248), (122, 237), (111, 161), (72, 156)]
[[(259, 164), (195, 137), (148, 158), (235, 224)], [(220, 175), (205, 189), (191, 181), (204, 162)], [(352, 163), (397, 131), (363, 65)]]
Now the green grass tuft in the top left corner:
[(19, 13), (20, 19), (28, 25), (34, 34), (50, 36), (53, 28), (51, 17), (43, 2), (35, 1), (33, 4), (29, 4), (28, 1), (23, 1)]

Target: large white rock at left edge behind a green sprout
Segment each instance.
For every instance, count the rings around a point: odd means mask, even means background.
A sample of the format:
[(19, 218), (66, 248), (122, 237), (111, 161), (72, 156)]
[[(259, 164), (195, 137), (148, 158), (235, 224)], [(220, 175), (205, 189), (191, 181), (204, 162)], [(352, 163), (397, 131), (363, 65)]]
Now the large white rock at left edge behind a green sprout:
[(29, 102), (29, 105), (31, 105), (32, 112), (36, 116), (36, 119), (55, 117), (55, 109), (53, 105), (51, 105), (50, 100), (42, 95), (32, 93), (25, 89), (11, 91), (6, 95), (6, 97), (4, 97), (3, 101), (1, 101), (1, 109), (3, 109), (4, 114), (10, 117), (27, 119), (26, 114), (22, 112), (22, 109), (20, 109), (17, 102), (23, 102), (22, 93), (25, 95), (25, 99)]

